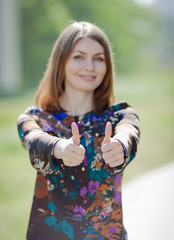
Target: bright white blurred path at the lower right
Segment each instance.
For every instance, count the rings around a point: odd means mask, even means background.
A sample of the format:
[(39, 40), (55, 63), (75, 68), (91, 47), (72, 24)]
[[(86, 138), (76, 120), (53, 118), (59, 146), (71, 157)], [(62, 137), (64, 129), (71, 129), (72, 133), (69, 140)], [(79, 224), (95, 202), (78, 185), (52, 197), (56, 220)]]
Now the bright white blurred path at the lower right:
[(128, 240), (174, 239), (174, 162), (123, 186)]

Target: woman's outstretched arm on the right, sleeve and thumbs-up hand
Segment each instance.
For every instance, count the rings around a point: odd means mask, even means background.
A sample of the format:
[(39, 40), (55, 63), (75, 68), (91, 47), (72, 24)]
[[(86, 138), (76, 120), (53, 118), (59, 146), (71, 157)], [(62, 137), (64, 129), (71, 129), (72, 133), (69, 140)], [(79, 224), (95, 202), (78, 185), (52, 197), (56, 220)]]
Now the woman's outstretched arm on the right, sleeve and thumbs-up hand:
[(102, 143), (103, 159), (115, 172), (121, 172), (135, 157), (139, 142), (139, 118), (136, 111), (126, 104), (118, 112), (119, 121), (112, 135), (112, 127), (107, 123)]

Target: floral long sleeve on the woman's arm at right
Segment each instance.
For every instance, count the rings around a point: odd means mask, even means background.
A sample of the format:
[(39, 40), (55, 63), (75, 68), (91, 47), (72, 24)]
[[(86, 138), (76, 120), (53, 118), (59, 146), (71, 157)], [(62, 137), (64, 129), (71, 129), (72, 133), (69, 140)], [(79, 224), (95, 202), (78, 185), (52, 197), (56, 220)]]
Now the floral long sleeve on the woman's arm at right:
[(115, 127), (114, 138), (119, 140), (124, 148), (125, 161), (115, 168), (121, 172), (132, 161), (137, 152), (137, 145), (140, 139), (139, 117), (132, 107), (128, 106), (119, 111), (120, 121)]

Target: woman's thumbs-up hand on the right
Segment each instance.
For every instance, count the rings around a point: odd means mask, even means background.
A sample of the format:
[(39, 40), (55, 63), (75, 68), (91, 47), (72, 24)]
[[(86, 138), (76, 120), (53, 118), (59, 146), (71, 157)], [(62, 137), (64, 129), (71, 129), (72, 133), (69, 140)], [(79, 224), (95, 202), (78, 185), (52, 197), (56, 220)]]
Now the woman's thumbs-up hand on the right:
[(112, 126), (110, 122), (107, 122), (101, 150), (104, 161), (109, 164), (110, 167), (117, 167), (124, 163), (124, 150), (121, 143), (111, 138), (111, 135)]

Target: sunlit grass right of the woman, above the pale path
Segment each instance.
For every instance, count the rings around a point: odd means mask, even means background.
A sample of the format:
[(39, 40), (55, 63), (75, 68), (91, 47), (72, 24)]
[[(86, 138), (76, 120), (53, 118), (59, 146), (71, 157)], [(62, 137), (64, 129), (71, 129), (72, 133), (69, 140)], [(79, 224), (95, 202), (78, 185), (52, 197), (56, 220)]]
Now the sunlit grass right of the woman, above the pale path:
[(120, 79), (118, 82), (118, 98), (126, 96), (138, 111), (141, 125), (138, 153), (125, 171), (125, 183), (174, 160), (173, 93), (170, 74)]

